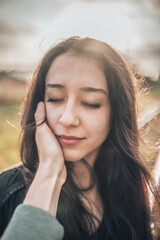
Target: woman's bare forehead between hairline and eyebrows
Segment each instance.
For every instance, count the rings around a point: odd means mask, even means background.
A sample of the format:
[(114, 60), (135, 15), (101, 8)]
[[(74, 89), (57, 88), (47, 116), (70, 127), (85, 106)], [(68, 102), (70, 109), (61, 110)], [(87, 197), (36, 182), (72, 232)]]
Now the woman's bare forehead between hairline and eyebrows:
[(107, 89), (106, 77), (98, 63), (91, 58), (71, 53), (59, 55), (54, 59), (46, 76), (46, 84), (48, 83), (89, 85)]

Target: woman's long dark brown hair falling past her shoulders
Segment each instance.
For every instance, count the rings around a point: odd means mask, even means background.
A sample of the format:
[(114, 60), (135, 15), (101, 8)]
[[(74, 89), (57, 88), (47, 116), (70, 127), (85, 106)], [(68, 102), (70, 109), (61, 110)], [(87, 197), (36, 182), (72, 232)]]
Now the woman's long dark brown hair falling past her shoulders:
[[(95, 61), (104, 72), (111, 105), (110, 132), (102, 144), (91, 173), (91, 186), (98, 184), (103, 216), (103, 239), (150, 239), (150, 206), (148, 198), (151, 174), (140, 154), (137, 126), (137, 83), (134, 71), (125, 58), (108, 44), (91, 38), (69, 38), (53, 46), (38, 65), (25, 99), (22, 117), (21, 159), (33, 175), (38, 167), (35, 143), (34, 113), (44, 101), (45, 78), (54, 59), (66, 52)], [(72, 163), (66, 162), (67, 181), (59, 200), (57, 218), (65, 229), (64, 239), (87, 239), (94, 225), (91, 214), (80, 200), (87, 189), (73, 181)], [(90, 229), (88, 229), (90, 228)], [(97, 238), (99, 239), (99, 238)]]

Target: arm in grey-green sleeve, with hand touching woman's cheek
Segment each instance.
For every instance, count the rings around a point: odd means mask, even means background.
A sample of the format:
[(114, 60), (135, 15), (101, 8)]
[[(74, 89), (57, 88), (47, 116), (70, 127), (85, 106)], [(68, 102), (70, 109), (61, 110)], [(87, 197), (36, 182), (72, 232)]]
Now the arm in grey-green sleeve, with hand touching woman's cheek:
[(63, 227), (55, 216), (66, 181), (66, 167), (62, 149), (44, 119), (45, 107), (40, 103), (35, 114), (39, 166), (24, 204), (17, 207), (2, 240), (61, 240), (63, 237)]

